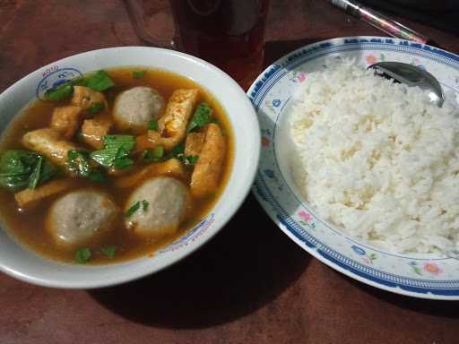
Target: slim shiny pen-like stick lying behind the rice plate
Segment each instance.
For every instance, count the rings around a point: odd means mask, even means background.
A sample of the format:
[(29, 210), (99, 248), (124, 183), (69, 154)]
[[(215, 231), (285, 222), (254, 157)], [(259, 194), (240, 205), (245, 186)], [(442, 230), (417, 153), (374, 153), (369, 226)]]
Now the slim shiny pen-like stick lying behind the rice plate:
[(378, 13), (368, 7), (363, 7), (361, 4), (355, 1), (349, 0), (329, 0), (334, 6), (339, 7), (346, 11), (346, 13), (352, 16), (368, 22), (379, 30), (394, 36), (399, 39), (408, 39), (414, 42), (425, 44), (428, 42), (428, 38), (421, 35), (420, 33), (407, 28), (400, 22), (395, 22), (392, 19), (386, 17), (382, 13)]

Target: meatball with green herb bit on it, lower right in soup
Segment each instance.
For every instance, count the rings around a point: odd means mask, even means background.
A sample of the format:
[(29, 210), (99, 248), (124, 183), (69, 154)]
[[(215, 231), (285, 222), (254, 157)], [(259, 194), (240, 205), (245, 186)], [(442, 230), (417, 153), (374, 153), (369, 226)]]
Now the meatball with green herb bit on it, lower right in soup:
[[(188, 191), (183, 183), (169, 176), (148, 179), (126, 202), (126, 227), (140, 236), (161, 236), (178, 230), (186, 213)], [(134, 206), (134, 208), (132, 208)]]

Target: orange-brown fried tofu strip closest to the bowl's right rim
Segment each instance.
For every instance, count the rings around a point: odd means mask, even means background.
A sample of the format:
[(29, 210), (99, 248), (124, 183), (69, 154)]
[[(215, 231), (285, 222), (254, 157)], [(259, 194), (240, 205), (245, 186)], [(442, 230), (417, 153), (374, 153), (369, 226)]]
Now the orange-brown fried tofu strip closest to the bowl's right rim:
[(203, 197), (217, 190), (226, 154), (226, 142), (219, 125), (206, 125), (203, 148), (191, 175), (191, 193)]

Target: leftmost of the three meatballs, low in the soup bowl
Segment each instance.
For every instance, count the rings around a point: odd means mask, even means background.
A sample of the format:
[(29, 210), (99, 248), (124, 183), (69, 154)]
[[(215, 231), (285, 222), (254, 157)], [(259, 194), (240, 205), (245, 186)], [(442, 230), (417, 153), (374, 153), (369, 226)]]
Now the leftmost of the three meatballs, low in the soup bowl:
[(108, 233), (117, 207), (105, 193), (78, 190), (51, 206), (46, 227), (57, 244), (82, 245)]

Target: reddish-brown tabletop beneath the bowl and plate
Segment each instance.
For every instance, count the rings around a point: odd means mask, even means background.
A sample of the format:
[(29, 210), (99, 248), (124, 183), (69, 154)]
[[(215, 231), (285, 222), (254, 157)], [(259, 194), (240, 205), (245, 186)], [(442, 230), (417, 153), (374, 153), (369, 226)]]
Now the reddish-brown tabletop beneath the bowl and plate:
[[(381, 34), (320, 0), (273, 0), (268, 22), (266, 64), (317, 40)], [(459, 53), (454, 35), (403, 22)], [(1, 0), (0, 91), (58, 58), (139, 44), (121, 0)], [(1, 344), (389, 342), (459, 343), (458, 304), (344, 277), (283, 235), (251, 195), (209, 245), (143, 280), (60, 290), (0, 274)]]

